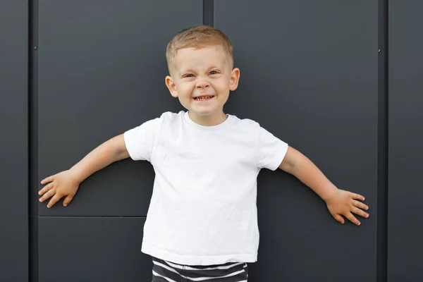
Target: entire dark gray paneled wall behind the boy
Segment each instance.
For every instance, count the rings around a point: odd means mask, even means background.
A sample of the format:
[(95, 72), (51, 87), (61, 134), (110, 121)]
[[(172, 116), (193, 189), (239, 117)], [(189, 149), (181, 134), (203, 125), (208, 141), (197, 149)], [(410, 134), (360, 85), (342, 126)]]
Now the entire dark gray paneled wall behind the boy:
[[(240, 87), (226, 111), (261, 123), (371, 208), (362, 226), (341, 225), (296, 178), (262, 171), (259, 261), (249, 281), (384, 282), (386, 272), (388, 282), (422, 281), (420, 1), (389, 2), (387, 62), (378, 45), (382, 1), (205, 1), (0, 2), (0, 281), (149, 281), (151, 258), (140, 246), (150, 164), (104, 168), (66, 208), (38, 203), (39, 180), (114, 135), (183, 109), (164, 85), (166, 44), (201, 23), (234, 44)], [(378, 97), (384, 66), (388, 107)], [(388, 139), (378, 131), (385, 110)], [(384, 142), (387, 171), (378, 154)]]

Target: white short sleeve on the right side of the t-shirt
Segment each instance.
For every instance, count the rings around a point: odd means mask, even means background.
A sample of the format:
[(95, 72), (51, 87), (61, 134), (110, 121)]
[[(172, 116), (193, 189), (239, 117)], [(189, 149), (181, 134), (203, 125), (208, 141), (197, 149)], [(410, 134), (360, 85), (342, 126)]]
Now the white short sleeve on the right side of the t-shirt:
[(288, 144), (264, 128), (259, 128), (259, 168), (268, 168), (275, 171), (281, 165), (288, 151)]

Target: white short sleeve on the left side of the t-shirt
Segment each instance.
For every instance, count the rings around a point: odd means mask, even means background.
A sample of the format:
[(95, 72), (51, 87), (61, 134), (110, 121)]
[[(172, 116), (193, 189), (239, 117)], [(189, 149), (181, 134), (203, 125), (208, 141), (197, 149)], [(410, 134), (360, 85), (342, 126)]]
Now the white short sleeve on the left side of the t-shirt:
[(151, 161), (151, 153), (157, 138), (161, 119), (154, 118), (123, 133), (125, 146), (131, 159), (134, 161)]

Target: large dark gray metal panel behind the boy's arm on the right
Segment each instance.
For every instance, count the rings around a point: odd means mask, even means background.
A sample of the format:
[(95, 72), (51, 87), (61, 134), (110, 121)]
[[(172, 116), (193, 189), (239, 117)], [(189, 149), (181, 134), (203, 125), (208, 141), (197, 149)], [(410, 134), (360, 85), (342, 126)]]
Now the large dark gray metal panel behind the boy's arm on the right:
[(377, 1), (215, 0), (240, 87), (226, 111), (252, 118), (370, 206), (360, 227), (283, 171), (258, 180), (251, 281), (376, 281)]

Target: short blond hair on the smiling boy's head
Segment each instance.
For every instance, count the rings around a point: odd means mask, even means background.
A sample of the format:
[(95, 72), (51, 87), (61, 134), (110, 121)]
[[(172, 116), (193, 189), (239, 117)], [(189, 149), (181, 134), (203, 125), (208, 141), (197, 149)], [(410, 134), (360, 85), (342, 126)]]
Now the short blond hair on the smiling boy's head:
[(179, 49), (193, 47), (200, 49), (207, 46), (221, 45), (226, 52), (231, 68), (233, 67), (233, 46), (231, 39), (221, 30), (208, 25), (196, 25), (178, 32), (168, 43), (166, 61), (171, 72), (176, 52)]

